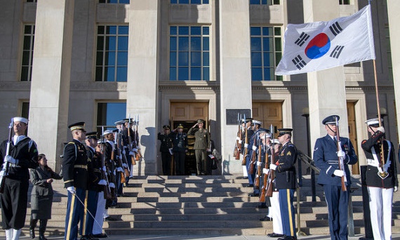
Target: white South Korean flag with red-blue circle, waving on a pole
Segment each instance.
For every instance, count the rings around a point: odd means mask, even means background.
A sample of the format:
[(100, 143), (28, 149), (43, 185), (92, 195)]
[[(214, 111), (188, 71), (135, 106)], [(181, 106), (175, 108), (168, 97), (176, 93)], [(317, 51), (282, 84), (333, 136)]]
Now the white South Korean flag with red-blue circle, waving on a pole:
[(314, 72), (375, 59), (371, 7), (329, 22), (289, 24), (276, 75)]

